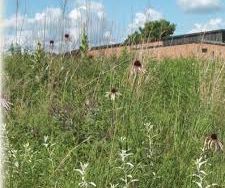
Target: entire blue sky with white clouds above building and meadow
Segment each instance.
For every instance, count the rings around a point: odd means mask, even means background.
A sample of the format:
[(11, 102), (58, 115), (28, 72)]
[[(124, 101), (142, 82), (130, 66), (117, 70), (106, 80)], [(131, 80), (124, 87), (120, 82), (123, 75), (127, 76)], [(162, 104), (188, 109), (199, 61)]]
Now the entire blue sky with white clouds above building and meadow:
[[(175, 34), (225, 29), (224, 0), (5, 0), (5, 46), (37, 41), (59, 48), (63, 33), (70, 47), (87, 30), (92, 46), (123, 41), (146, 21), (165, 18)], [(65, 2), (67, 2), (65, 4)]]

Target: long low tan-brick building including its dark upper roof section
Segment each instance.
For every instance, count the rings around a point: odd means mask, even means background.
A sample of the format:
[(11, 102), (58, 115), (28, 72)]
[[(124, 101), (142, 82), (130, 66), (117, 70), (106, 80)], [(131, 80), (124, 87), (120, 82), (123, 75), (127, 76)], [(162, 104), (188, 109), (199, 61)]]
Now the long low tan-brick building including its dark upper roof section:
[(177, 57), (206, 57), (225, 59), (225, 29), (170, 36), (163, 41), (138, 45), (113, 44), (93, 47), (93, 56), (119, 55), (124, 49), (137, 56), (157, 59)]

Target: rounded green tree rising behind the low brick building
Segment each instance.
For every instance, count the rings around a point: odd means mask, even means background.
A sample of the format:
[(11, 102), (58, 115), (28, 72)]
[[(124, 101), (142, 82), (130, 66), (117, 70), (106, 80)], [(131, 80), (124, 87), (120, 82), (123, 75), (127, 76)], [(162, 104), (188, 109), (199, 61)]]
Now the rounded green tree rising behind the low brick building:
[(139, 28), (129, 35), (124, 41), (125, 44), (138, 44), (141, 42), (153, 42), (162, 40), (174, 33), (176, 25), (167, 20), (146, 22), (143, 28)]

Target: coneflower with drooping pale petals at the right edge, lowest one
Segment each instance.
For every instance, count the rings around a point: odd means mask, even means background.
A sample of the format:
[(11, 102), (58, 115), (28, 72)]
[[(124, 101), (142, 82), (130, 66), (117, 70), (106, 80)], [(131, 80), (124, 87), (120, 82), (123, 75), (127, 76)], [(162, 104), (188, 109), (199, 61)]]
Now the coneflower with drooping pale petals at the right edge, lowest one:
[(205, 138), (203, 150), (223, 151), (223, 143), (218, 139), (217, 134), (213, 133)]

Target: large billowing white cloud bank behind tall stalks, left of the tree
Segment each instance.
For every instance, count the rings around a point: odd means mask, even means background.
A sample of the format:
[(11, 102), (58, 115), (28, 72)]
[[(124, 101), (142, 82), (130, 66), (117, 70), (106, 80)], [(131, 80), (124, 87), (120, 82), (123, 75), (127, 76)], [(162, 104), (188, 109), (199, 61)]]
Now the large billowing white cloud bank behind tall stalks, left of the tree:
[[(16, 18), (13, 15), (5, 19), (4, 27), (5, 48), (15, 41), (23, 46), (32, 46), (34, 41), (42, 41), (48, 46), (49, 40), (54, 40), (58, 51), (64, 33), (70, 34), (71, 47), (76, 48), (79, 46), (84, 28), (88, 33), (91, 46), (112, 42), (113, 39), (104, 6), (93, 1), (78, 3), (65, 15), (64, 21), (62, 9), (47, 8), (33, 17), (18, 15)], [(106, 36), (107, 32), (110, 34)]]

